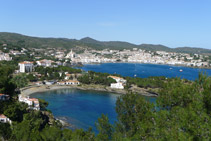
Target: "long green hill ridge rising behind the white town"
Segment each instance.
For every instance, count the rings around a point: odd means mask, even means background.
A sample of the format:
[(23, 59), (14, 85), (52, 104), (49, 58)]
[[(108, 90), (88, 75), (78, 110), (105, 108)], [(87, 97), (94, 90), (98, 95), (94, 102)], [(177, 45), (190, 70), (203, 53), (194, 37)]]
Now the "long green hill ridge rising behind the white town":
[(67, 38), (40, 38), (25, 36), (17, 33), (0, 32), (0, 44), (7, 43), (13, 46), (21, 46), (26, 48), (93, 48), (93, 49), (144, 49), (149, 51), (167, 51), (167, 52), (180, 52), (180, 53), (211, 53), (210, 49), (179, 47), (169, 48), (164, 45), (141, 44), (135, 45), (128, 42), (121, 41), (97, 41), (90, 37), (82, 38), (80, 40), (67, 39)]

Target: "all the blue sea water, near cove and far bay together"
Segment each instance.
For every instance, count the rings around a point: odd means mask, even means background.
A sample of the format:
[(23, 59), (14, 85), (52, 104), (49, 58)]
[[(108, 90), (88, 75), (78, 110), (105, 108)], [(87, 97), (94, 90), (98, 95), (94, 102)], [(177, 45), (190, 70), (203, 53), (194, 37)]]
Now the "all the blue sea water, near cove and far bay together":
[[(166, 76), (181, 77), (189, 80), (198, 78), (199, 72), (206, 72), (211, 76), (209, 69), (195, 69), (188, 67), (152, 65), (152, 64), (128, 64), (128, 63), (107, 63), (99, 65), (85, 65), (83, 70), (117, 73), (122, 76), (149, 77), (149, 76)], [(183, 70), (180, 72), (180, 70)], [(77, 89), (60, 89), (48, 92), (36, 93), (32, 97), (41, 98), (49, 102), (48, 109), (58, 118), (65, 118), (72, 126), (71, 129), (83, 128), (88, 130), (92, 127), (97, 133), (95, 122), (101, 116), (106, 114), (110, 123), (117, 120), (115, 112), (115, 103), (119, 94), (98, 91), (84, 91)], [(149, 99), (155, 102), (155, 98)]]

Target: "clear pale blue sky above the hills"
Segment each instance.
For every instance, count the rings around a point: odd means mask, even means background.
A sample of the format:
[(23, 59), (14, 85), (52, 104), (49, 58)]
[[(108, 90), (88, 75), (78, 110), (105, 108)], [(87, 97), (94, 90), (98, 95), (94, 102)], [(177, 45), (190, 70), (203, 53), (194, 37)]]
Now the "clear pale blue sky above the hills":
[(0, 0), (0, 32), (211, 49), (210, 0)]

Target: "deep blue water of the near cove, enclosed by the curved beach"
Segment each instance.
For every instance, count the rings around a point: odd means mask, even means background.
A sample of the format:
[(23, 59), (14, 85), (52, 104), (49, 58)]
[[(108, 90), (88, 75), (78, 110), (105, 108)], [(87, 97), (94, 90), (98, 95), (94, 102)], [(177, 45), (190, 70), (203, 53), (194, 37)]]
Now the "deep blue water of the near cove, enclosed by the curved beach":
[[(87, 130), (92, 127), (95, 132), (95, 122), (102, 113), (109, 117), (110, 123), (116, 121), (115, 103), (119, 96), (108, 92), (78, 89), (59, 89), (32, 95), (49, 102), (48, 109), (55, 117), (65, 118), (72, 125), (71, 129)], [(155, 98), (149, 100), (154, 102)]]

